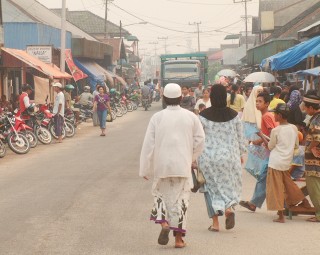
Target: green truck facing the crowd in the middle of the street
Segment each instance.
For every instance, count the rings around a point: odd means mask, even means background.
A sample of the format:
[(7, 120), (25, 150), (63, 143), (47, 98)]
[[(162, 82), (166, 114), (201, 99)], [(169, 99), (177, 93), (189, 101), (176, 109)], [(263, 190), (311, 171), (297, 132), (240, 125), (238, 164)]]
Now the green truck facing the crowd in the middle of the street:
[(161, 55), (161, 86), (177, 83), (180, 86), (197, 87), (202, 81), (208, 84), (208, 57), (204, 53)]

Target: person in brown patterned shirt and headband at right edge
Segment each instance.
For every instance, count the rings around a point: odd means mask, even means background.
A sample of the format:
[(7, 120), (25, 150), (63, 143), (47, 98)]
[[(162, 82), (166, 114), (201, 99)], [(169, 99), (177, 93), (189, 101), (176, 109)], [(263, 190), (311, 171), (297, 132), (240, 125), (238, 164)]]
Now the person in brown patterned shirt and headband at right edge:
[(305, 176), (310, 199), (316, 209), (310, 222), (320, 222), (320, 97), (305, 95), (303, 98), (306, 113), (312, 116), (308, 127), (305, 150)]

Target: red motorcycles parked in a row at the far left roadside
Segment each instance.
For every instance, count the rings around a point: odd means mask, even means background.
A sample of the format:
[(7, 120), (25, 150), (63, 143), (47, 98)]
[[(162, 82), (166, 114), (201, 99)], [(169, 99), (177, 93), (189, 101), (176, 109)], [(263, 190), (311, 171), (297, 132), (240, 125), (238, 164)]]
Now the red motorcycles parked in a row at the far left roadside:
[[(47, 100), (46, 100), (47, 102)], [(17, 154), (26, 154), (39, 142), (48, 145), (58, 139), (54, 129), (54, 118), (47, 103), (34, 107), (34, 111), (18, 116), (3, 109), (0, 115), (0, 158), (6, 155), (6, 144)], [(72, 112), (72, 111), (71, 111)], [(73, 112), (66, 112), (62, 136), (73, 137), (76, 132)]]

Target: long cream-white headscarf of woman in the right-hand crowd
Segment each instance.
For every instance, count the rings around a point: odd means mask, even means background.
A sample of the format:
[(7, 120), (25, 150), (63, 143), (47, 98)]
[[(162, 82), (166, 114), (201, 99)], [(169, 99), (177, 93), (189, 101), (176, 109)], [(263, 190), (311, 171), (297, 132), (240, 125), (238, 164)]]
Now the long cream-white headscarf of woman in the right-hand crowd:
[(242, 113), (242, 120), (249, 123), (257, 124), (258, 128), (261, 128), (262, 114), (256, 107), (256, 99), (260, 92), (263, 91), (262, 86), (255, 86), (244, 106)]

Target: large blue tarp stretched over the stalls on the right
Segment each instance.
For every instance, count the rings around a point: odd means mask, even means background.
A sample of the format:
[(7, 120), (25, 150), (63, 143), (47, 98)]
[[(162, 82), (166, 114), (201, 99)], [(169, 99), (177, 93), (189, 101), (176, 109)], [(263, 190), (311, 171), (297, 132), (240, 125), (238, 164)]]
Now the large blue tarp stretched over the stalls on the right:
[(260, 67), (270, 67), (272, 71), (291, 68), (309, 56), (320, 54), (320, 36), (299, 43), (285, 51), (262, 60)]

